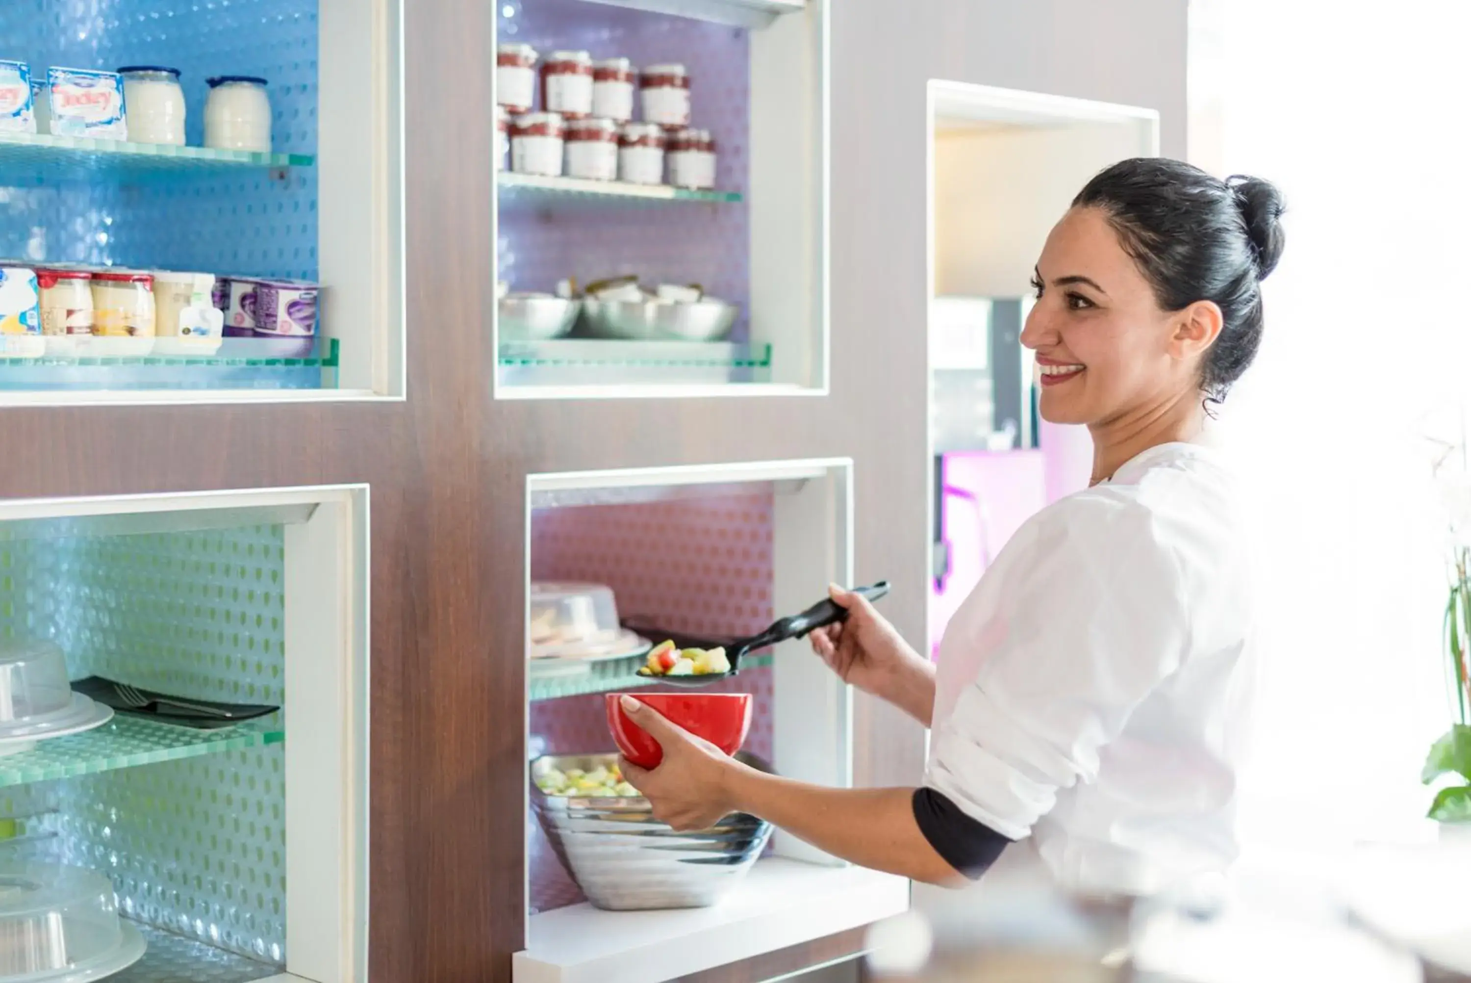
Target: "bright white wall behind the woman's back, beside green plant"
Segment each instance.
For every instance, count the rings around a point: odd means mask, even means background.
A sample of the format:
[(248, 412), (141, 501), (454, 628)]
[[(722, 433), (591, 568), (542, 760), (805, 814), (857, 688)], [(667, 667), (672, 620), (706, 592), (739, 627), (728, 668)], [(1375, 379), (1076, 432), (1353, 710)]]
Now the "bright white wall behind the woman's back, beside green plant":
[(1430, 831), (1417, 774), (1449, 724), (1415, 430), (1471, 391), (1471, 12), (1193, 6), (1193, 28), (1215, 32), (1192, 65), (1192, 147), (1277, 181), (1290, 207), (1261, 361), (1222, 418), (1253, 492), (1264, 605), (1243, 820), (1258, 839), (1415, 837)]

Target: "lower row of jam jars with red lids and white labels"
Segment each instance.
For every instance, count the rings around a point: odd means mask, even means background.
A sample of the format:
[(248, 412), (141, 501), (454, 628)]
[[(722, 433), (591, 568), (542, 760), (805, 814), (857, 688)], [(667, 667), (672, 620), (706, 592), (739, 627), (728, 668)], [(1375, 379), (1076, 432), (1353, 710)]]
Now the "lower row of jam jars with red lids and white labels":
[(510, 169), (518, 174), (715, 187), (715, 140), (708, 129), (666, 134), (655, 124), (619, 127), (612, 119), (562, 119), (558, 113), (524, 113), (507, 129), (502, 168), (509, 150)]

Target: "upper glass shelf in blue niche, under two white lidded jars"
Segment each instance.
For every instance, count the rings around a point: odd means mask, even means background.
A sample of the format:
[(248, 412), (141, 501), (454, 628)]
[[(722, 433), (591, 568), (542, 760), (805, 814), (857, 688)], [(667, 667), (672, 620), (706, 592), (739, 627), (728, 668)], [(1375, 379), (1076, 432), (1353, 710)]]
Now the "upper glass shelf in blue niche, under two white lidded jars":
[(207, 174), (250, 168), (307, 168), (316, 157), (302, 153), (250, 153), (209, 147), (172, 147), (90, 137), (0, 132), (0, 178), (15, 182), (49, 178), (94, 178)]

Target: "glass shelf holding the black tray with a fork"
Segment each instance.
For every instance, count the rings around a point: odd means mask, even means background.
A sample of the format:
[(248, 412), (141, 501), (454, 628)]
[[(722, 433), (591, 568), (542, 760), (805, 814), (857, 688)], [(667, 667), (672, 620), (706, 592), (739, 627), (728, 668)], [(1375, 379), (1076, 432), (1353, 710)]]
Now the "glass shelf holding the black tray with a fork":
[(278, 717), (265, 720), (268, 723), (196, 730), (118, 714), (97, 730), (41, 740), (31, 750), (0, 758), (0, 787), (218, 755), (285, 740)]

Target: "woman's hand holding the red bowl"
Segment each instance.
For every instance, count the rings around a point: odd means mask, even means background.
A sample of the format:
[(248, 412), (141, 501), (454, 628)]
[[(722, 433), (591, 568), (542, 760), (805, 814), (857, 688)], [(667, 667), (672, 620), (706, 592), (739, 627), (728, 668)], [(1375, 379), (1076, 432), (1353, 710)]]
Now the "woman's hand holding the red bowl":
[(627, 758), (618, 759), (628, 784), (653, 805), (653, 818), (680, 831), (706, 830), (738, 809), (731, 778), (743, 765), (710, 742), (669, 723), (652, 706), (628, 696), (622, 699), (622, 706), (628, 720), (663, 748), (663, 761), (653, 770), (640, 768)]

